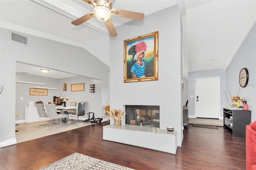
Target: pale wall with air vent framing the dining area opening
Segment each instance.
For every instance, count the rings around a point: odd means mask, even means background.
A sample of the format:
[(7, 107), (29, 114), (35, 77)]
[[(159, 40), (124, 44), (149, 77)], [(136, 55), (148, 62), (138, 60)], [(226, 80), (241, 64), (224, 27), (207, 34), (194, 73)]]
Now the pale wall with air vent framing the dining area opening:
[(10, 30), (0, 30), (0, 83), (4, 83), (0, 95), (0, 147), (16, 143), (16, 61), (100, 79), (102, 104), (98, 107), (106, 105), (109, 98), (109, 67), (91, 53), (81, 47), (18, 34), (28, 37), (28, 45), (12, 41)]

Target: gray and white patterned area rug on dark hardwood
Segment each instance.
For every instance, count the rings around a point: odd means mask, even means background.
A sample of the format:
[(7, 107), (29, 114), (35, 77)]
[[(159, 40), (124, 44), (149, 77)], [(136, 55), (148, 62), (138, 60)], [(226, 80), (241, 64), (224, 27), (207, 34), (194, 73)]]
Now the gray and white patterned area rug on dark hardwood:
[(124, 166), (74, 153), (39, 170), (133, 170)]

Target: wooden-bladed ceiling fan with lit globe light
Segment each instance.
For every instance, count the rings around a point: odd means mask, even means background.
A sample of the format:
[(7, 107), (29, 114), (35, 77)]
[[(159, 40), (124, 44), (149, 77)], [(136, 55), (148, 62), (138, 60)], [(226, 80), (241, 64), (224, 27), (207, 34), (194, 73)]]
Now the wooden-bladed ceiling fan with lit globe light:
[(111, 0), (94, 0), (94, 1), (82, 0), (82, 1), (86, 2), (89, 5), (94, 6), (93, 12), (90, 12), (76, 19), (71, 23), (78, 26), (96, 16), (98, 20), (105, 22), (111, 37), (117, 36), (116, 29), (114, 28), (114, 25), (111, 20), (112, 15), (121, 16), (124, 18), (130, 18), (130, 19), (139, 20), (139, 21), (142, 21), (144, 19), (143, 13), (112, 8)]

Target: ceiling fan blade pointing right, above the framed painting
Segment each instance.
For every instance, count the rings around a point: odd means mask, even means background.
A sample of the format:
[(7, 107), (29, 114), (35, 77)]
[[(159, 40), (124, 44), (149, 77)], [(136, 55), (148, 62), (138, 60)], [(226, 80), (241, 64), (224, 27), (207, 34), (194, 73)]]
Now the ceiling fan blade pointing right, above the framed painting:
[(124, 18), (130, 18), (133, 20), (139, 20), (142, 21), (144, 19), (144, 14), (140, 12), (133, 12), (133, 11), (127, 11), (127, 10), (120, 10), (116, 8), (111, 9), (111, 13), (114, 16), (121, 16)]

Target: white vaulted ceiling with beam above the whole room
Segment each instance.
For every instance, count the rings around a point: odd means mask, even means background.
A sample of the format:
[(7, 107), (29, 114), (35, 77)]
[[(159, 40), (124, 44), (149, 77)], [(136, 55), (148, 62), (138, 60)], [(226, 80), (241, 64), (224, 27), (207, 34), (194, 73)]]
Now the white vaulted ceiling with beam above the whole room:
[[(256, 0), (112, 0), (111, 4), (145, 16), (178, 5), (184, 77), (192, 71), (226, 69), (256, 22)], [(0, 0), (0, 26), (83, 47), (109, 65), (104, 51), (109, 51), (106, 43), (111, 37), (104, 23), (92, 18), (79, 26), (71, 24), (92, 10), (83, 0)], [(132, 21), (111, 19), (114, 27)], [(98, 50), (96, 43), (105, 50)]]

